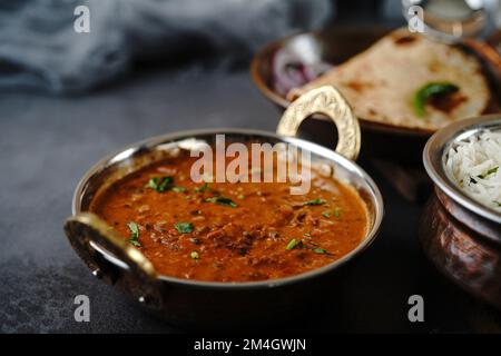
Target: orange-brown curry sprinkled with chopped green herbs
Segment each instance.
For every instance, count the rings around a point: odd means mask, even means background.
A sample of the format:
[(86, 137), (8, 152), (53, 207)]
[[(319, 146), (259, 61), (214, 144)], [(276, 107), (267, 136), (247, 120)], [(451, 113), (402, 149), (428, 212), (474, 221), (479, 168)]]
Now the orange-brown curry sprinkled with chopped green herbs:
[[(331, 264), (366, 236), (364, 201), (332, 174), (312, 168), (310, 191), (291, 195), (289, 182), (196, 184), (195, 160), (181, 154), (141, 168), (90, 206), (160, 275), (206, 281), (283, 278)], [(255, 168), (250, 161), (249, 168)]]

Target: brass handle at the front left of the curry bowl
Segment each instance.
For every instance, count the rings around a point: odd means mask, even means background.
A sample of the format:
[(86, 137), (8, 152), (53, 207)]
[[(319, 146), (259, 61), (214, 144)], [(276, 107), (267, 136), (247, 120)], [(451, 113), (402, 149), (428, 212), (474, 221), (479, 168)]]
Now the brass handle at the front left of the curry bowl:
[[(160, 284), (154, 266), (108, 224), (94, 214), (80, 212), (66, 220), (65, 233), (78, 256), (95, 276), (110, 284), (120, 279), (124, 288), (140, 303), (149, 307), (159, 307)], [(110, 263), (106, 261), (92, 245), (105, 249), (127, 265), (129, 273), (120, 277), (115, 276)]]

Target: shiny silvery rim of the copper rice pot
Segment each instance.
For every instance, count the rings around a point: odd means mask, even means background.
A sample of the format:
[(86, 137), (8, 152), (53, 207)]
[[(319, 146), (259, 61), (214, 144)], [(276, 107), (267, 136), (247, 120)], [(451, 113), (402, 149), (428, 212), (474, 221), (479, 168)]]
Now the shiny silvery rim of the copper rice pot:
[(448, 175), (445, 160), (452, 145), (484, 129), (501, 130), (501, 115), (459, 120), (436, 131), (423, 150), (424, 168), (433, 182), (451, 199), (481, 217), (501, 224), (501, 214), (466, 195)]

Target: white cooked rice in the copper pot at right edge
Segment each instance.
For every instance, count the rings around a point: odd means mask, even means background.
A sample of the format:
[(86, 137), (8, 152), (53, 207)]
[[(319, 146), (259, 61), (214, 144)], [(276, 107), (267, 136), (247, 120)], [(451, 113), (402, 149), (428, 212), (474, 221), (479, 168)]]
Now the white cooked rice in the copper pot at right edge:
[(484, 130), (451, 147), (445, 168), (470, 197), (501, 212), (501, 131)]

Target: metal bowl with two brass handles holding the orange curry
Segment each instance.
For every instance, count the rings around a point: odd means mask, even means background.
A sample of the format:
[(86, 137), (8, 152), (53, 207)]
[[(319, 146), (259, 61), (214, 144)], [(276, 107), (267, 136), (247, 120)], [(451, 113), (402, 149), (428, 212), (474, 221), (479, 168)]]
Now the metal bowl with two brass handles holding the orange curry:
[[(315, 112), (331, 117), (338, 131), (336, 151), (294, 136), (301, 122)], [(216, 134), (226, 139), (287, 142), (311, 152), (312, 164), (330, 165), (336, 179), (354, 187), (370, 212), (362, 243), (346, 256), (322, 268), (281, 279), (249, 283), (210, 283), (158, 275), (151, 263), (97, 216), (89, 214), (92, 198), (117, 179), (191, 142), (213, 142)], [(381, 194), (353, 160), (361, 137), (356, 117), (341, 95), (324, 87), (302, 96), (285, 111), (277, 134), (245, 129), (212, 129), (176, 132), (147, 139), (111, 155), (91, 168), (78, 185), (72, 212), (65, 225), (68, 239), (92, 274), (119, 287), (132, 301), (170, 324), (214, 330), (282, 324), (311, 315), (312, 306), (330, 301), (345, 265), (358, 257), (375, 239), (383, 218)]]

